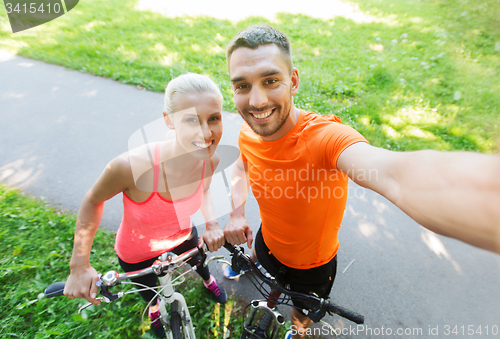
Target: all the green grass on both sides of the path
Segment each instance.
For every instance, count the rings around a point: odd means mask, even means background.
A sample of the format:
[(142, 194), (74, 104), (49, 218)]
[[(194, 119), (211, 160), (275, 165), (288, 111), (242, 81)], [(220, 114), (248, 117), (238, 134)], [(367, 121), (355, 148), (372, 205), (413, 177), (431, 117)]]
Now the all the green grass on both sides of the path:
[[(179, 74), (203, 73), (221, 86), (225, 109), (235, 111), (225, 47), (239, 30), (270, 23), (292, 40), (298, 107), (340, 115), (372, 144), (393, 150), (500, 152), (498, 0), (353, 1), (377, 18), (368, 23), (289, 14), (272, 23), (173, 19), (137, 11), (135, 3), (80, 1), (69, 14), (18, 34), (2, 9), (0, 48), (158, 92)], [(37, 298), (68, 275), (74, 218), (0, 186), (0, 336), (150, 338), (138, 296), (83, 316), (75, 314), (81, 300)], [(100, 271), (117, 266), (112, 241), (98, 232), (92, 260)], [(239, 306), (219, 308), (198, 282), (185, 292), (197, 305), (199, 336), (222, 338), (224, 314), (231, 313), (236, 337)]]

